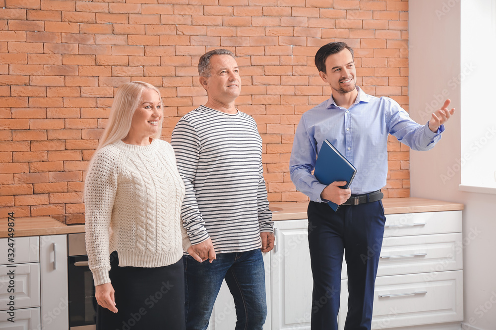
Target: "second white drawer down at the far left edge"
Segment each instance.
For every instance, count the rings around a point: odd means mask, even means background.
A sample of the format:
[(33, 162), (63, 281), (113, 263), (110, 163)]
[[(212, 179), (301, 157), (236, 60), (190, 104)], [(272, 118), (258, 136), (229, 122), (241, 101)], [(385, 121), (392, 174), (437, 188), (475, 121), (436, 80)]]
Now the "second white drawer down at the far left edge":
[[(7, 310), (9, 296), (13, 295), (15, 308), (40, 306), (40, 264), (0, 266), (0, 310)], [(14, 292), (9, 289), (9, 271), (14, 270)]]

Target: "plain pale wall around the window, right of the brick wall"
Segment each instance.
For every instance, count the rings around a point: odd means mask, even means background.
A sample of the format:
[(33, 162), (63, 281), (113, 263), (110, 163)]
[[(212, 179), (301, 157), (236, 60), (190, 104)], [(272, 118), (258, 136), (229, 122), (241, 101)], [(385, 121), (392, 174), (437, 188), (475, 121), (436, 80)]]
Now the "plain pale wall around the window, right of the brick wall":
[[(477, 1), (470, 0), (470, 4)], [(467, 65), (460, 60), (460, 19), (460, 0), (409, 1), (410, 115), (418, 122), (427, 122), (432, 112), (429, 104), (437, 108), (445, 97), (449, 97), (456, 108), (441, 141), (433, 150), (410, 152), (411, 196), (465, 204), (465, 320), (462, 329), (494, 330), (496, 195), (458, 190), (461, 183), (458, 164), (461, 159), (460, 113), (465, 111), (475, 116), (478, 112), (477, 108), (460, 107), (458, 81)], [(486, 61), (495, 58), (494, 53), (481, 53), (480, 56)], [(495, 76), (495, 73), (488, 74)], [(494, 93), (478, 96), (494, 107), (494, 102), (491, 102)], [(484, 123), (483, 119), (481, 123)]]

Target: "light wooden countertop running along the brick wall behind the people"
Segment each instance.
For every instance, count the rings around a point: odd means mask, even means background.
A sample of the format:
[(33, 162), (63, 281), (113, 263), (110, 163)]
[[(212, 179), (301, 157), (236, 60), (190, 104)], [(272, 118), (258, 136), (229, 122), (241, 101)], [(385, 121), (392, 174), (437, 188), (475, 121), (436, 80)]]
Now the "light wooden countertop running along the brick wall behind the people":
[[(463, 204), (425, 198), (384, 198), (385, 214), (463, 210)], [(273, 220), (307, 219), (308, 202), (271, 203)], [(67, 226), (51, 217), (15, 218), (14, 237), (84, 233), (84, 225)], [(6, 221), (0, 237), (8, 237)]]

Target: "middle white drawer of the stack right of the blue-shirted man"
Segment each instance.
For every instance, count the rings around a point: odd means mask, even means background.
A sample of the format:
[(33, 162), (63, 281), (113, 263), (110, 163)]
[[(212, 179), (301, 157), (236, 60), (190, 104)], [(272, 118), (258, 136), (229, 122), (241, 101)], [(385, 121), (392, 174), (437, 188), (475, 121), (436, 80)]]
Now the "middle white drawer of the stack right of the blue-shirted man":
[(462, 233), (384, 237), (377, 276), (426, 273), (430, 280), (442, 271), (461, 270), (461, 246)]

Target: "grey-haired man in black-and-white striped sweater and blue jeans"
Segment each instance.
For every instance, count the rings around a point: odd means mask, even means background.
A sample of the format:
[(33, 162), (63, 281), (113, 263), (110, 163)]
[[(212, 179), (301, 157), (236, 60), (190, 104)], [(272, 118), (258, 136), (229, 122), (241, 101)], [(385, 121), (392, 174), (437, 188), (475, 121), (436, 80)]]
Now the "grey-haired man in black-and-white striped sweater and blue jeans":
[(236, 329), (259, 330), (265, 322), (261, 252), (274, 246), (272, 213), (262, 169), (262, 139), (256, 123), (238, 111), (239, 68), (227, 49), (199, 59), (205, 105), (186, 114), (172, 133), (186, 196), (182, 218), (193, 251), (185, 265), (186, 329), (207, 329), (225, 279), (236, 304)]

